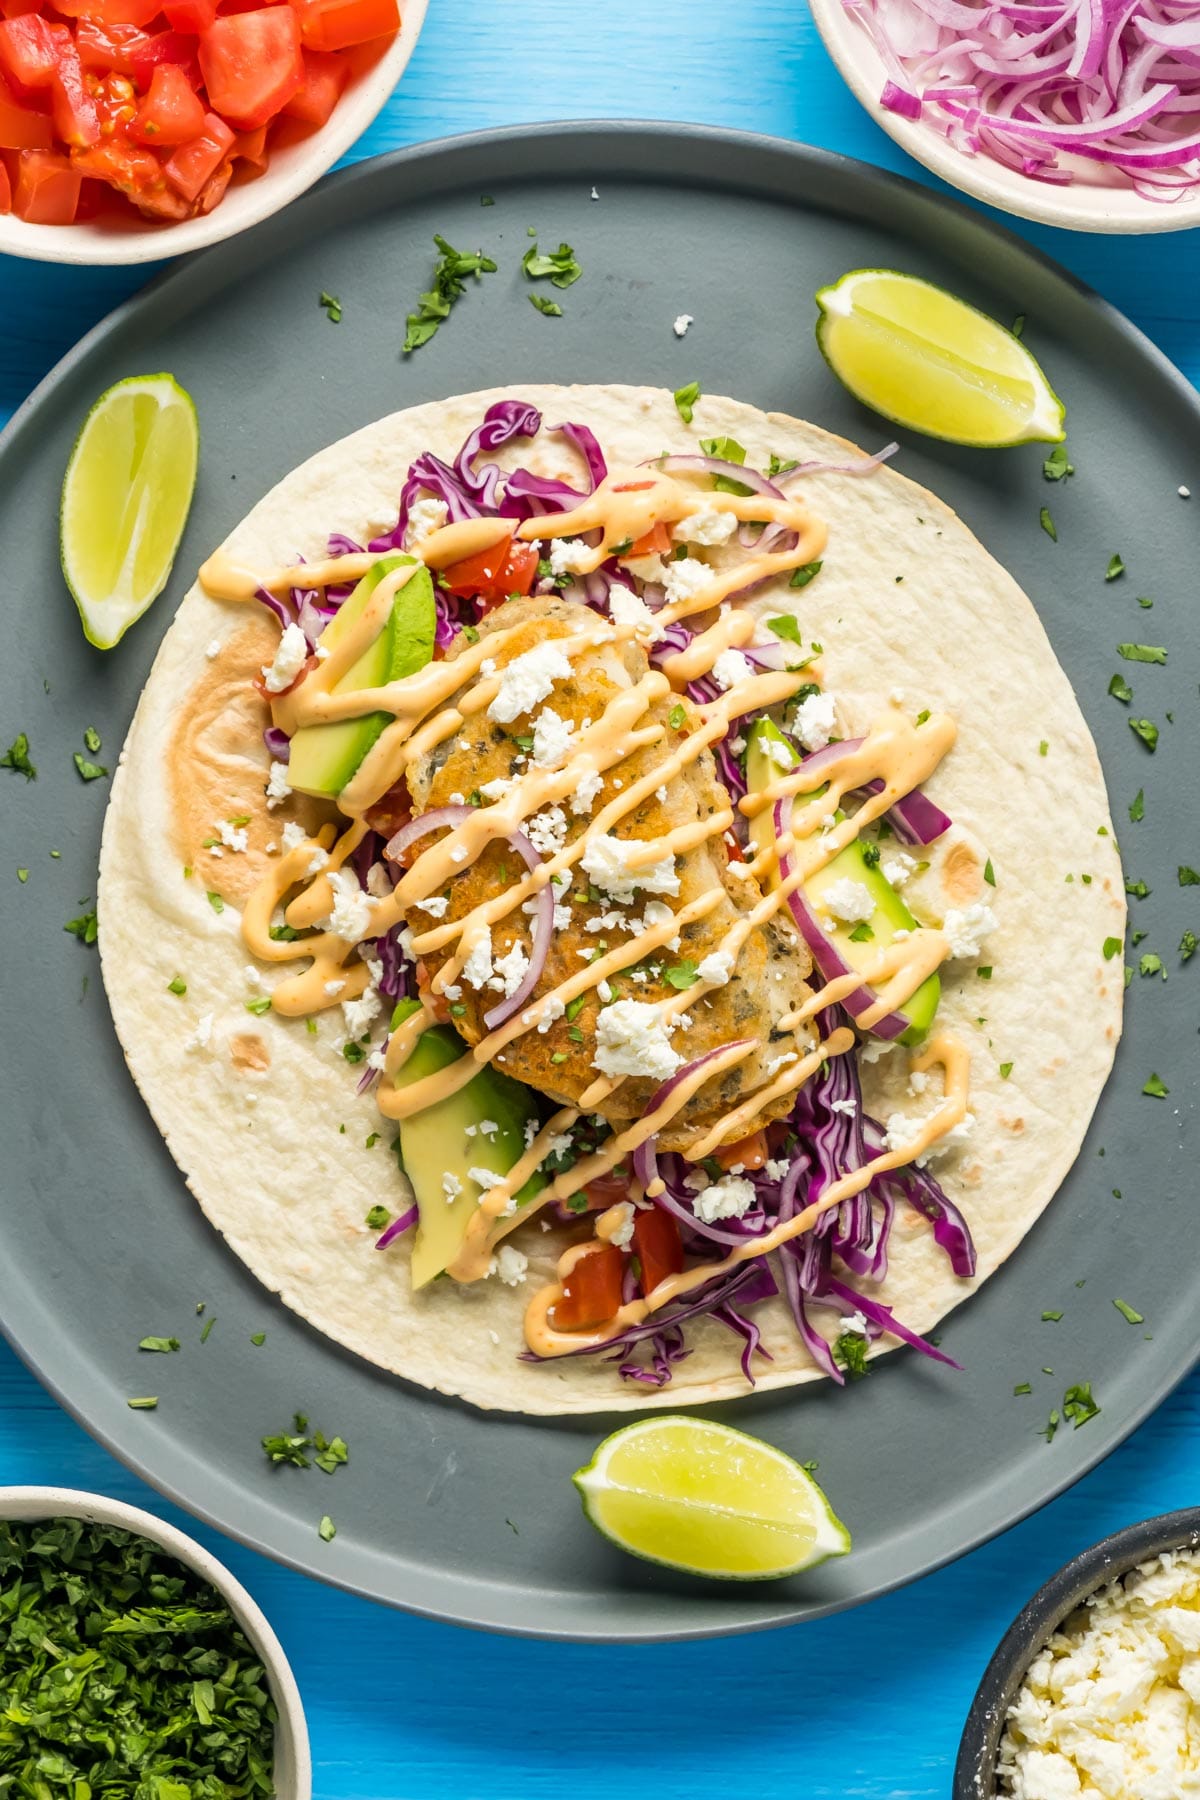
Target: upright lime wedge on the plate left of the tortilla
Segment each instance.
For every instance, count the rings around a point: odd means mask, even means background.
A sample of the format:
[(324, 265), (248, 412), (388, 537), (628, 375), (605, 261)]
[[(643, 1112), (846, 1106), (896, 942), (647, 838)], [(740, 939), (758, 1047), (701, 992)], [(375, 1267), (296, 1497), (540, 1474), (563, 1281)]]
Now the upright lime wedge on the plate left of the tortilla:
[(196, 486), (200, 427), (173, 374), (95, 401), (63, 475), (59, 554), (88, 643), (112, 650), (162, 594)]

